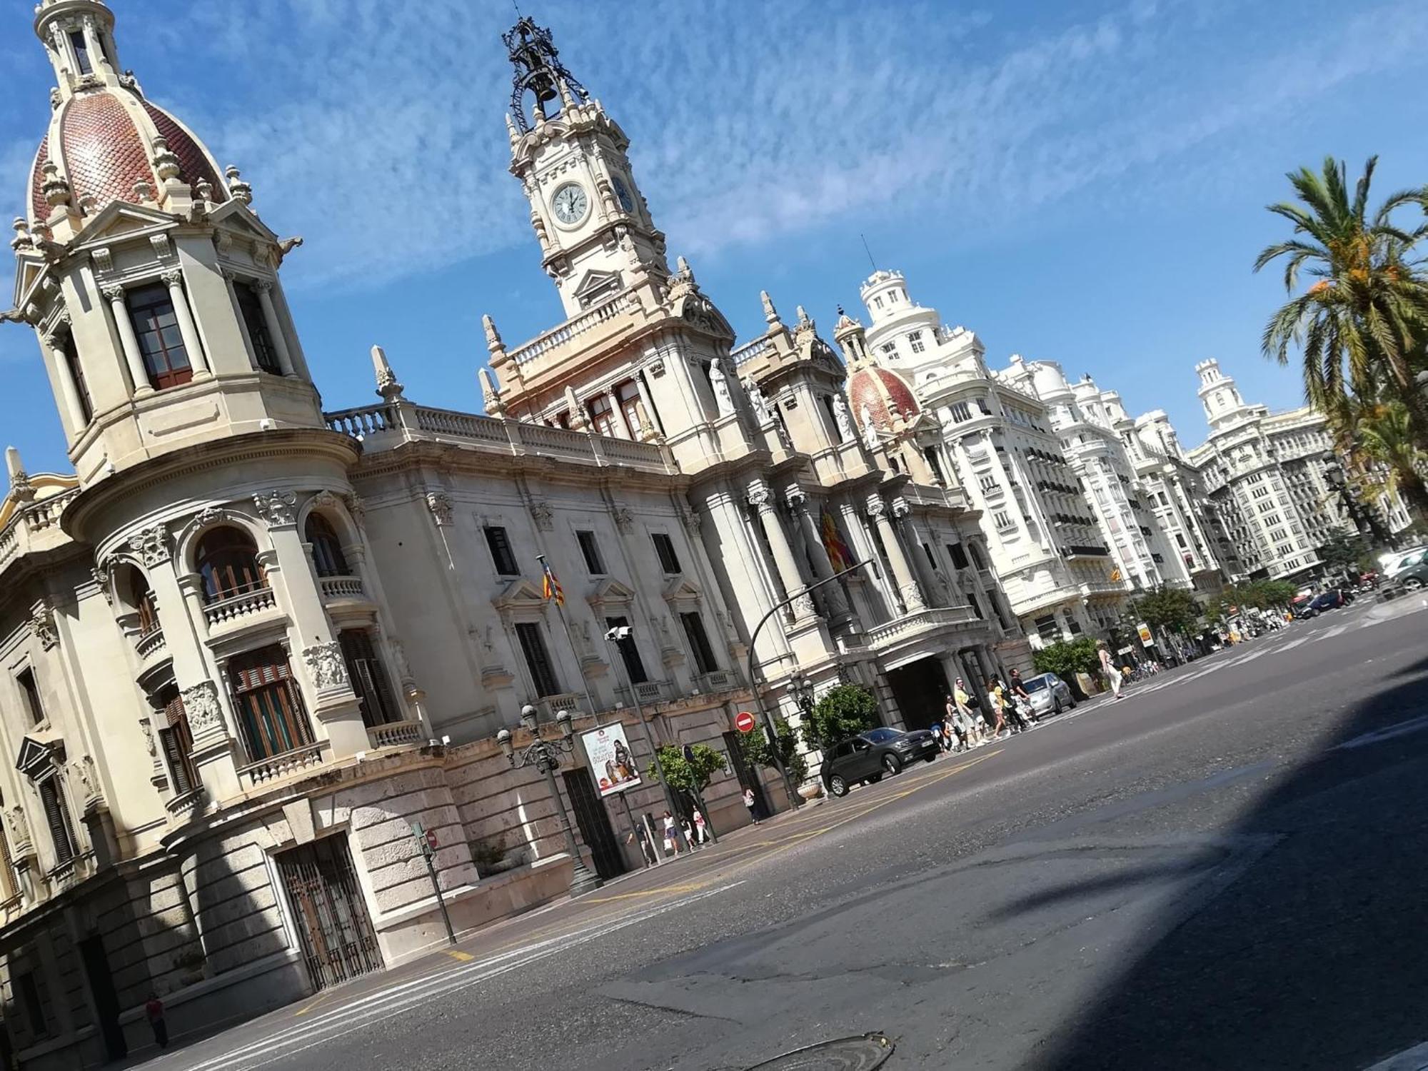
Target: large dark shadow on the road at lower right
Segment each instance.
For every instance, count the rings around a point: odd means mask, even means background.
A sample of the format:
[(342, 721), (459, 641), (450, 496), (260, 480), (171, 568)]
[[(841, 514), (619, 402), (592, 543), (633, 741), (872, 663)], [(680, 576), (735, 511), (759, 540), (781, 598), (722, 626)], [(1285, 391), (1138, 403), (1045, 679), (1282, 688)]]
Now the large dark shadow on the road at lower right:
[(1428, 733), (1335, 750), (1428, 713), (1428, 658), (1385, 683), (1227, 831), (1275, 845), (1162, 918), (1034, 1067), (1344, 1071), (1428, 1038)]

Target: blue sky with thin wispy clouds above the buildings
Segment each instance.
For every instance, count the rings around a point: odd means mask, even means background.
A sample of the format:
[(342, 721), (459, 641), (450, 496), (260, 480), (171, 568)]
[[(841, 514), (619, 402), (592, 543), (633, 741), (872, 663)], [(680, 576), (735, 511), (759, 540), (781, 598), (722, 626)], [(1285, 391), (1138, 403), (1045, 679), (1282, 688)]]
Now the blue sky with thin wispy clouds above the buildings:
[[(328, 408), (480, 407), (480, 317), (508, 346), (560, 318), (507, 173), (508, 0), (113, 0), (121, 60), (306, 244), (284, 266)], [(526, 0), (630, 136), (634, 174), (741, 337), (758, 290), (831, 334), (868, 260), (1002, 367), (1060, 361), (1204, 437), (1192, 364), (1298, 404), (1250, 264), (1284, 173), (1378, 153), (1428, 181), (1421, 0), (575, 3)], [(20, 211), (49, 114), (33, 0), (0, 0), (0, 191)], [(0, 330), (3, 438), (67, 468), (36, 343)]]

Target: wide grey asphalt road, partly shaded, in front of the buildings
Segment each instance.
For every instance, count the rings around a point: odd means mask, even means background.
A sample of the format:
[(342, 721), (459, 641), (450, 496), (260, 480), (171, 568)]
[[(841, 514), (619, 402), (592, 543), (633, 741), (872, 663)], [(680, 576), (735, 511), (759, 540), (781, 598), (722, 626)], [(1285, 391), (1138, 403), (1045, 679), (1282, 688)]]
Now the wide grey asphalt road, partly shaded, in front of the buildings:
[(891, 1070), (1367, 1068), (1428, 1041), (1424, 603), (1359, 600), (146, 1067), (748, 1068), (883, 1031)]

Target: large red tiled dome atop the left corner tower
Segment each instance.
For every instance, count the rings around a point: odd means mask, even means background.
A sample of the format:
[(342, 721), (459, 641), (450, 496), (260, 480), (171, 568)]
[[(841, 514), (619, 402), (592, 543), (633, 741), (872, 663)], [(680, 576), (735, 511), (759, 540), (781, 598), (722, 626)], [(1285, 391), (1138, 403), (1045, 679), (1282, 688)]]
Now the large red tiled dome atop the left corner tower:
[[(218, 181), (198, 143), (163, 109), (147, 100), (140, 104), (169, 143), (169, 151), (178, 157), (178, 178), (190, 186), (206, 178), (213, 187), (213, 197), (224, 200), (227, 188)], [(101, 90), (77, 96), (61, 107), (59, 121), (59, 163), (70, 181), (74, 204), (86, 197), (93, 197), (97, 208), (111, 201), (137, 201), (134, 183), (139, 181), (149, 183), (153, 190), (159, 188), (159, 178), (149, 163), (147, 139), (134, 127), (134, 120), (117, 93)], [(40, 143), (30, 178), (30, 206), (37, 218), (50, 213), (41, 190), (50, 147), (51, 137), (47, 134)]]

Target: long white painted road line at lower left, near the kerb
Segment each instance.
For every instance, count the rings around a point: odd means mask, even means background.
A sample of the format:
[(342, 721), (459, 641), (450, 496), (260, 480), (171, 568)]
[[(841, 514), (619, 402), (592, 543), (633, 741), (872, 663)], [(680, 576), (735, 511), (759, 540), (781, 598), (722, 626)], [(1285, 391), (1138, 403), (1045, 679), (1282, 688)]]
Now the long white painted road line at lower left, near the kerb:
[[(493, 955), (478, 962), (466, 964), (454, 971), (443, 971), (441, 974), (431, 975), (427, 978), (418, 978), (416, 981), (403, 982), (400, 985), (391, 985), (384, 990), (367, 994), (353, 1004), (336, 1008), (330, 1012), (318, 1015), (313, 1020), (301, 1022), (300, 1025), (288, 1027), (277, 1034), (254, 1041), (241, 1048), (236, 1048), (231, 1052), (224, 1052), (221, 1055), (206, 1060), (200, 1064), (194, 1064), (187, 1068), (187, 1071), (220, 1071), (221, 1068), (237, 1068), (243, 1067), (247, 1071), (253, 1068), (266, 1067), (278, 1060), (286, 1060), (290, 1055), (303, 1052), (320, 1044), (326, 1044), (333, 1038), (351, 1034), (353, 1031), (363, 1030), (364, 1027), (383, 1022), (384, 1020), (393, 1018), (408, 1011), (433, 997), (441, 997), (447, 992), (454, 992), (463, 990), (468, 985), (486, 981), (487, 978), (494, 978), (507, 971), (514, 971), (518, 967), (526, 967), (527, 964), (544, 960), (557, 952), (565, 951), (574, 945), (585, 944), (604, 934), (614, 932), (617, 930), (624, 930), (625, 927), (637, 925), (655, 915), (661, 915), (667, 911), (674, 911), (675, 908), (685, 907), (700, 900), (724, 892), (725, 890), (734, 888), (735, 885), (744, 884), (743, 881), (734, 881), (727, 885), (720, 885), (717, 888), (704, 890), (703, 892), (695, 892), (688, 897), (681, 897), (680, 900), (673, 900), (668, 904), (661, 904), (660, 907), (650, 908), (647, 911), (628, 915), (617, 921), (601, 921), (594, 925), (585, 927), (583, 930), (575, 930), (570, 934), (560, 934), (557, 937), (538, 941), (533, 945), (524, 948), (517, 948), (510, 952), (503, 952), (501, 955)], [(518, 957), (518, 958), (516, 958)], [(393, 1002), (393, 997), (397, 994), (404, 994), (401, 1000)], [(381, 1014), (373, 1014), (377, 1011), (371, 1005), (380, 1004)], [(351, 1022), (354, 1017), (360, 1017), (360, 1021)], [(346, 1027), (346, 1030), (344, 1030)], [(311, 1041), (316, 1035), (321, 1035), (318, 1040)], [(284, 1050), (287, 1042), (304, 1040), (308, 1044), (298, 1048)], [(268, 1055), (274, 1054), (274, 1055)], [(257, 1060), (261, 1057), (268, 1057), (267, 1060), (260, 1060), (260, 1062), (250, 1064), (247, 1061)]]

